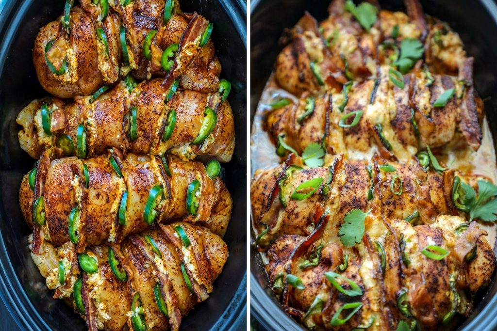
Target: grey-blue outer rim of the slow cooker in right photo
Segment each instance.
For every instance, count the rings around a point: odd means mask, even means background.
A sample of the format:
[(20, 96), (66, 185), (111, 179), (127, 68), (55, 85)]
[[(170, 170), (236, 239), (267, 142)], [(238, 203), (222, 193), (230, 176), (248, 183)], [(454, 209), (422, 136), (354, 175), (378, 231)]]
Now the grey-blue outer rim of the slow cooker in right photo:
[[(252, 0), (250, 2), (250, 13), (253, 13), (257, 6), (263, 0)], [(479, 0), (486, 8), (489, 15), (497, 25), (497, 5), (493, 0)], [(252, 236), (252, 233), (250, 233)], [(252, 238), (253, 239), (253, 238)], [(253, 242), (253, 240), (251, 240)], [(497, 243), (496, 243), (497, 247)], [(494, 248), (495, 251), (495, 248)], [(261, 267), (258, 257), (253, 256), (253, 250), (250, 250), (250, 260), (255, 259), (256, 267)], [(253, 316), (259, 324), (266, 330), (286, 330), (297, 331), (303, 330), (293, 318), (286, 314), (274, 295), (270, 295), (269, 289), (263, 288), (257, 278), (250, 270), (250, 315)], [(494, 281), (497, 281), (495, 279)], [(495, 295), (488, 304), (473, 318), (469, 323), (464, 322), (460, 331), (485, 331), (497, 330), (497, 295)]]

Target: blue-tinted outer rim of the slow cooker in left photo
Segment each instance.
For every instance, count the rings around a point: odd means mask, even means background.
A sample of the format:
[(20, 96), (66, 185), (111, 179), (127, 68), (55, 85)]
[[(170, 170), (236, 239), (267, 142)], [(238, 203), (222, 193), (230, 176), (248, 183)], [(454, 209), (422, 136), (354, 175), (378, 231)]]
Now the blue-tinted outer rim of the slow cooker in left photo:
[[(8, 50), (13, 36), (24, 19), (29, 6), (35, 0), (8, 0), (0, 5), (0, 77), (3, 73)], [(230, 16), (238, 35), (247, 48), (247, 3), (244, 0), (219, 1)], [(20, 4), (19, 4), (20, 3)], [(0, 199), (1, 196), (0, 196)], [(228, 270), (225, 270), (227, 272)], [(241, 330), (245, 327), (247, 314), (247, 271), (242, 278), (233, 298), (212, 326), (211, 331)], [(0, 230), (0, 298), (10, 316), (21, 330), (50, 330), (40, 314), (34, 309), (19, 282), (5, 247), (5, 239)]]

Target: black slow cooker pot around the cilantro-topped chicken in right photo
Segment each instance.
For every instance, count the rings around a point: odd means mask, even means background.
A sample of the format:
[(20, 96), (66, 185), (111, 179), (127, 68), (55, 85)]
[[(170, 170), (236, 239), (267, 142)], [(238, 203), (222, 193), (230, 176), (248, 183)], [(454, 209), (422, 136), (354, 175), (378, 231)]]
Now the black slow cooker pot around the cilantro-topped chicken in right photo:
[[(252, 0), (250, 4), (250, 119), (274, 62), (283, 46), (285, 28), (291, 28), (308, 10), (318, 20), (327, 17), (331, 0)], [(402, 0), (379, 0), (385, 9), (404, 10)], [(497, 6), (494, 0), (420, 0), (424, 12), (446, 22), (460, 34), (466, 51), (475, 57), (475, 85), (485, 100), (490, 128), (497, 141)], [(277, 13), (277, 14), (275, 14)], [(253, 242), (253, 238), (252, 238)], [(250, 314), (267, 330), (302, 330), (283, 310), (267, 286), (266, 274), (252, 246), (250, 252)], [(471, 316), (460, 330), (497, 330), (497, 281), (480, 289)]]

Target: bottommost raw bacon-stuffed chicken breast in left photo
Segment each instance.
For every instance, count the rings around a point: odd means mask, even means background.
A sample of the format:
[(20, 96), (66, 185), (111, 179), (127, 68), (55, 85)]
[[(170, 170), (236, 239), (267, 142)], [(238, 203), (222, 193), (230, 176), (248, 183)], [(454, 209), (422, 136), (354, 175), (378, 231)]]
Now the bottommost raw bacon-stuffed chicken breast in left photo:
[[(177, 229), (189, 238), (187, 246), (172, 238)], [(71, 242), (59, 247), (44, 242), (31, 256), (54, 296), (75, 308), (88, 330), (178, 330), (182, 318), (212, 292), (228, 249), (207, 228), (176, 222), (79, 254)], [(89, 262), (83, 264), (82, 256)]]

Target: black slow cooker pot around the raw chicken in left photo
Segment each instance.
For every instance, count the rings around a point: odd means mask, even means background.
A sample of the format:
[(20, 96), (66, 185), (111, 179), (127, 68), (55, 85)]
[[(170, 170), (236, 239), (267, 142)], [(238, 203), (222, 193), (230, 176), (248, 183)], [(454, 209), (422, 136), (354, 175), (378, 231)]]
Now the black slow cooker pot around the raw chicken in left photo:
[[(234, 201), (233, 221), (224, 237), (230, 256), (210, 299), (195, 307), (181, 330), (245, 328), (247, 187), (241, 179), (247, 176), (247, 6), (244, 0), (180, 2), (184, 11), (196, 10), (214, 23), (212, 38), (222, 76), (234, 83), (229, 101), (236, 129), (235, 155), (225, 166), (225, 182)], [(48, 94), (36, 79), (31, 50), (38, 30), (62, 13), (64, 3), (6, 0), (0, 14), (0, 296), (21, 330), (86, 330), (71, 308), (51, 298), (52, 291), (30, 258), (30, 229), (18, 202), (22, 176), (34, 160), (19, 147), (15, 118), (31, 100)], [(237, 224), (240, 221), (243, 224)]]

